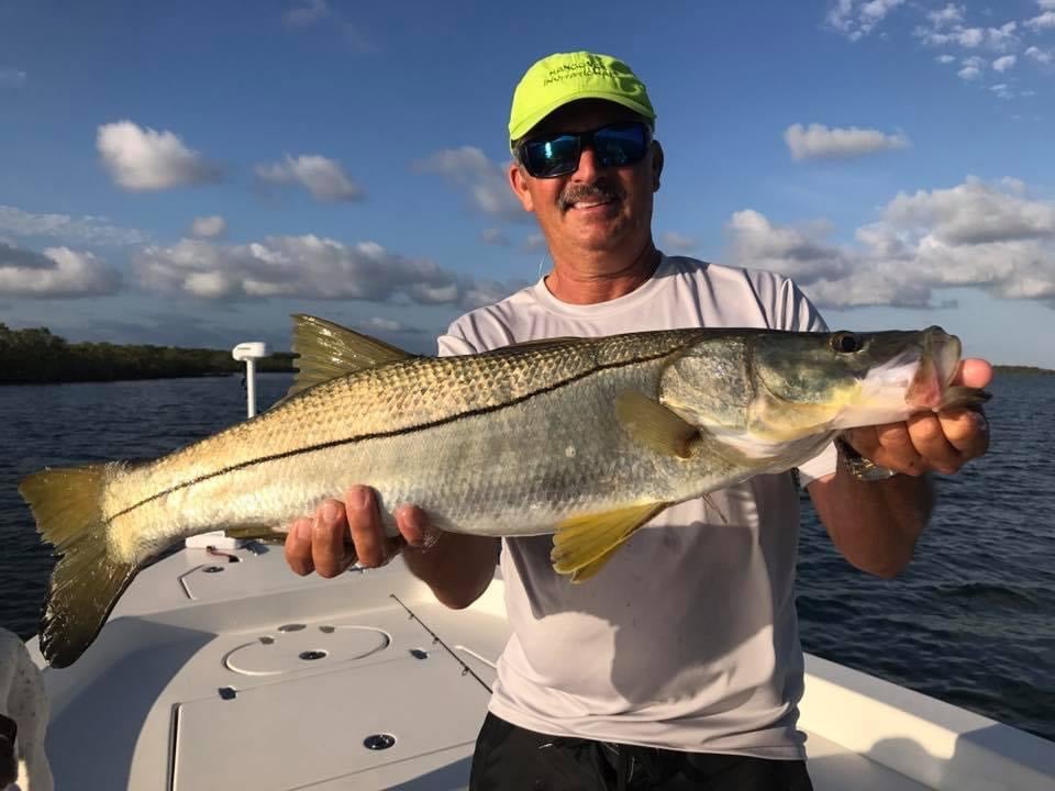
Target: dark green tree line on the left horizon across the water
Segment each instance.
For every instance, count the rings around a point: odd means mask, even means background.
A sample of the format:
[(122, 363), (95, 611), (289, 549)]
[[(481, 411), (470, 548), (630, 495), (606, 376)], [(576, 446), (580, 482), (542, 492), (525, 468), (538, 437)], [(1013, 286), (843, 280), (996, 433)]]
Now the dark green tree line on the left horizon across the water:
[[(291, 353), (278, 352), (257, 360), (257, 370), (291, 371), (292, 361)], [(242, 370), (244, 364), (221, 349), (71, 344), (47, 327), (11, 330), (0, 323), (0, 385), (167, 379)]]

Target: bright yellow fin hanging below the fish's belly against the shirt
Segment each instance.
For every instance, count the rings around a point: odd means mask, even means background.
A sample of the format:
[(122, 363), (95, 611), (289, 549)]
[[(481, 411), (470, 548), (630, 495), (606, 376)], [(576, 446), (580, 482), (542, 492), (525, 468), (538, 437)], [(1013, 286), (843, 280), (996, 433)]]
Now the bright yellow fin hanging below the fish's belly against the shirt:
[(573, 582), (589, 579), (638, 527), (666, 506), (667, 503), (645, 503), (565, 520), (553, 536), (549, 559), (554, 570), (571, 575)]

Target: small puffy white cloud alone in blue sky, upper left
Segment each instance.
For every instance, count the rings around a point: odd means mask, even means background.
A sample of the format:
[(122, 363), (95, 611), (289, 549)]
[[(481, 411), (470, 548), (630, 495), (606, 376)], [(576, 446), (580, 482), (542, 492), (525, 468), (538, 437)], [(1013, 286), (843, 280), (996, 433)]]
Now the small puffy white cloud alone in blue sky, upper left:
[(219, 169), (175, 134), (131, 121), (99, 127), (96, 147), (110, 176), (127, 190), (164, 190), (220, 180)]

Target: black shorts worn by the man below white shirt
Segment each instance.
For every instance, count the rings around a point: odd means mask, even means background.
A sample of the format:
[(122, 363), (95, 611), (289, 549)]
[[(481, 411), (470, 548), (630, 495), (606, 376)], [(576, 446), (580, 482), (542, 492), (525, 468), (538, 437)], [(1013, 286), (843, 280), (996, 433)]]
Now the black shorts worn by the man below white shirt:
[(562, 738), (490, 712), (473, 755), (469, 791), (812, 791), (802, 760)]

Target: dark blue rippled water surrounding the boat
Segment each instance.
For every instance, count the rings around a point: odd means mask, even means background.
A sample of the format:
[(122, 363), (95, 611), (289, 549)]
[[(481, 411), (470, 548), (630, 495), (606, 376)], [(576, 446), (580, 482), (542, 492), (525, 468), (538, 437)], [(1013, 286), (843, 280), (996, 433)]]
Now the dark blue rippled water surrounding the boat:
[[(262, 408), (288, 375), (258, 379)], [(849, 567), (806, 508), (807, 650), (1055, 739), (1055, 378), (992, 386), (992, 447), (939, 478), (941, 503), (896, 580)], [(151, 457), (245, 414), (237, 377), (0, 388), (0, 625), (36, 632), (52, 558), (15, 489), (45, 465)]]

